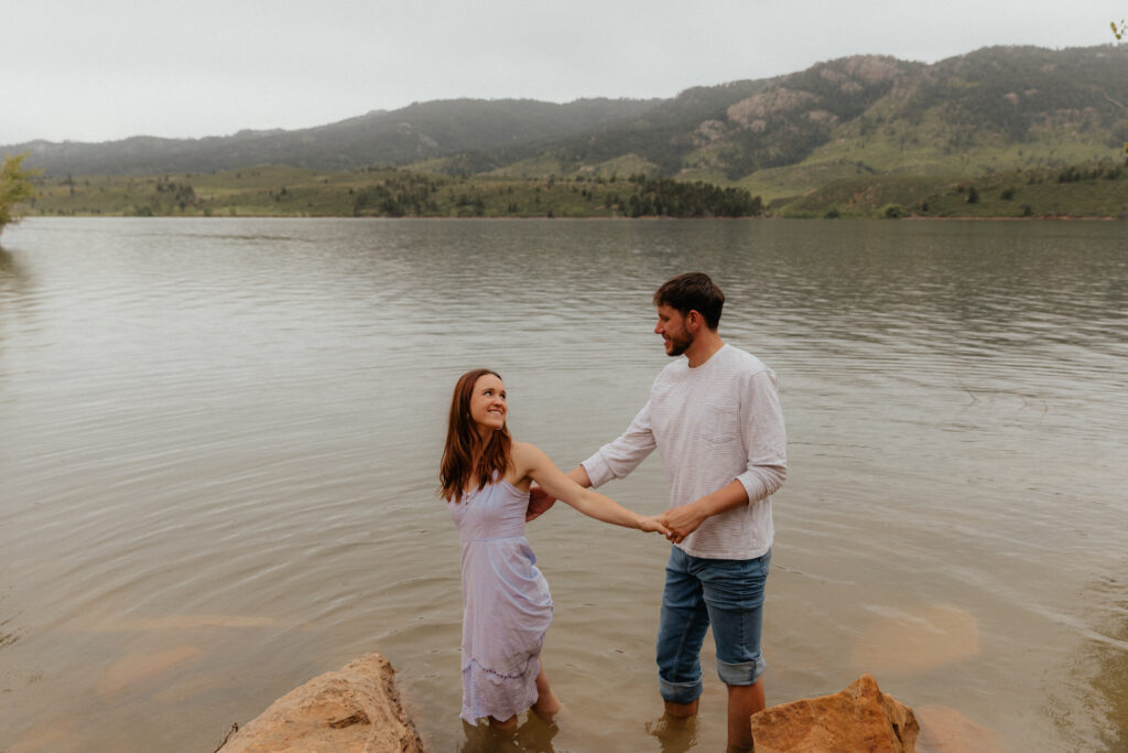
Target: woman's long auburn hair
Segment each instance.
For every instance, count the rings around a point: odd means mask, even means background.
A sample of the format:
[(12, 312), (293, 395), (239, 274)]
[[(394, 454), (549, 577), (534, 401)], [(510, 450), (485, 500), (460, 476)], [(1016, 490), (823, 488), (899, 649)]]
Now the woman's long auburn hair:
[(467, 371), (458, 378), (455, 394), (450, 399), (447, 445), (439, 465), (439, 496), (448, 502), (462, 501), (464, 490), (472, 476), (477, 476), (478, 489), (485, 489), (493, 481), (495, 471), (499, 475), (504, 475), (509, 469), (513, 439), (505, 424), (491, 435), (490, 441), (482, 449), (477, 466), (474, 465), (474, 450), (481, 439), (474, 419), (470, 418), (470, 397), (474, 395), (474, 385), (487, 374), (501, 378), (500, 374), (491, 369)]

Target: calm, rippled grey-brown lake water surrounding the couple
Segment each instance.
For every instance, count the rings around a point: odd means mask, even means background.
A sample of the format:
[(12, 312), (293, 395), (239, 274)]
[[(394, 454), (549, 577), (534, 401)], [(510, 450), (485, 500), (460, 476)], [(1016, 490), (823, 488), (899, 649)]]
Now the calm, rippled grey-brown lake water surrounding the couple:
[[(456, 377), (570, 467), (667, 362), (688, 269), (781, 376), (769, 703), (863, 672), (1014, 751), (1128, 747), (1128, 244), (1114, 222), (29, 220), (0, 252), (0, 751), (211, 751), (367, 651), (434, 751), (459, 706)], [(656, 458), (606, 490), (664, 507)], [(570, 706), (523, 750), (658, 735), (667, 545), (529, 529)], [(950, 713), (950, 711), (945, 711)]]

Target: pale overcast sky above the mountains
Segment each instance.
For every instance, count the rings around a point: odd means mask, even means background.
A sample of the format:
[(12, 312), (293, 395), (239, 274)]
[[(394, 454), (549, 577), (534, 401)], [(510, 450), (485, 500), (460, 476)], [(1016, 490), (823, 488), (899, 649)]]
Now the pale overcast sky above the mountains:
[(6, 0), (0, 145), (298, 129), (453, 97), (672, 97), (853, 54), (1109, 44), (1123, 17), (1128, 0)]

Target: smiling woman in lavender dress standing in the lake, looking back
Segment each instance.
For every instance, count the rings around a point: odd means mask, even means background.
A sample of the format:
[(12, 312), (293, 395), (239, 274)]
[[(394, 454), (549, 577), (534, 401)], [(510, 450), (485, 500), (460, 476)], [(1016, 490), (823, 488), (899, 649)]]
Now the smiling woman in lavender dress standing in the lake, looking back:
[(667, 533), (653, 517), (583, 489), (532, 445), (505, 428), (505, 385), (488, 369), (467, 371), (450, 401), (440, 496), (462, 544), (462, 712), (503, 729), (531, 708), (552, 717), (561, 702), (548, 685), (540, 648), (553, 619), (548, 584), (525, 537), (534, 481), (605, 523)]

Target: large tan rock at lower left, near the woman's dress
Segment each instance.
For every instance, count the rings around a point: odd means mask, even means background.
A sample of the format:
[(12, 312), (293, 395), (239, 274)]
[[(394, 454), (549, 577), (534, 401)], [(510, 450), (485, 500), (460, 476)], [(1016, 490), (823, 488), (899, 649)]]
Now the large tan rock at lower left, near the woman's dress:
[(367, 654), (314, 677), (243, 727), (222, 753), (422, 753), (399, 704), (395, 669)]

